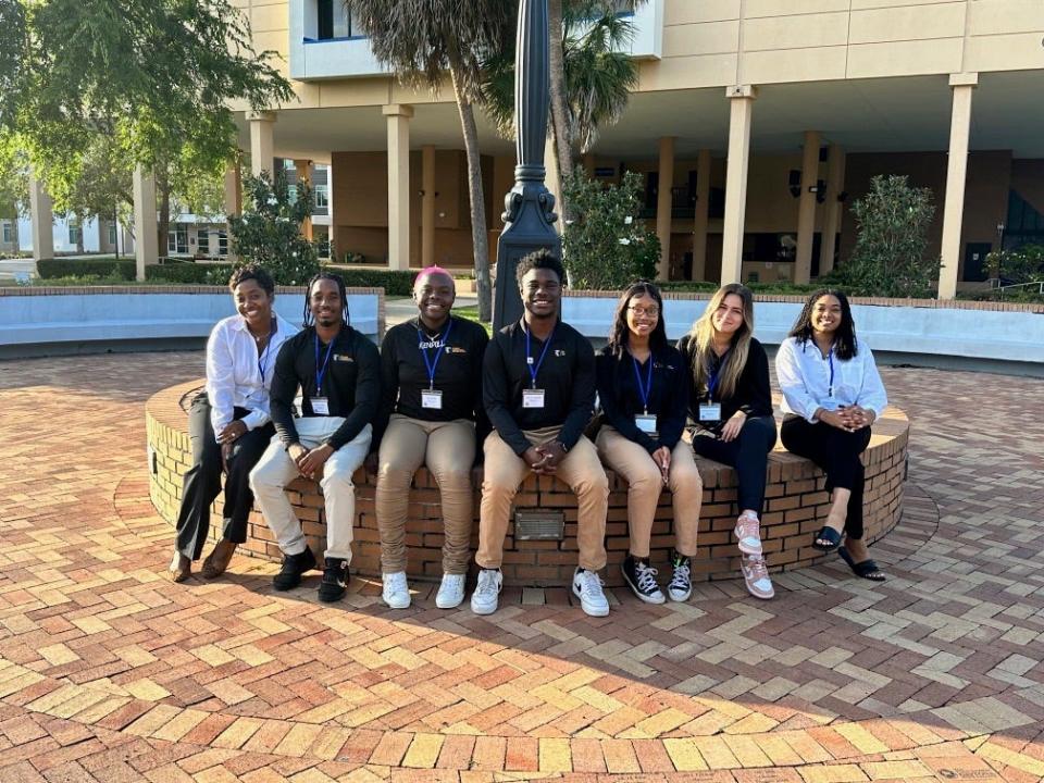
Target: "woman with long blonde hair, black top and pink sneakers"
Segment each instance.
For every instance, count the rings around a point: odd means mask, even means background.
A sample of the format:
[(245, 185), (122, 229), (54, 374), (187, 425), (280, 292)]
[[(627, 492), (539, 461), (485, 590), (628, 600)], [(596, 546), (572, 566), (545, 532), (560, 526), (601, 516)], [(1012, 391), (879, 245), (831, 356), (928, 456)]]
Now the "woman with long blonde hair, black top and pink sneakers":
[(736, 469), (735, 536), (741, 571), (757, 598), (774, 595), (761, 551), (768, 455), (775, 445), (769, 360), (754, 338), (754, 296), (738, 283), (722, 286), (678, 348), (689, 370), (689, 415), (696, 453)]

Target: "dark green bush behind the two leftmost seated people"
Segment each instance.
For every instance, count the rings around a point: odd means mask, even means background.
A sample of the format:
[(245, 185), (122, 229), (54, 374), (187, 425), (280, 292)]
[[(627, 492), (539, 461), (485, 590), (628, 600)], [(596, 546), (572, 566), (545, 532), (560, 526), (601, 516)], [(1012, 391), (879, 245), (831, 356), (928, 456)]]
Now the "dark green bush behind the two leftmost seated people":
[(243, 182), (244, 210), (232, 215), (232, 250), (241, 263), (264, 266), (281, 285), (304, 285), (319, 272), (319, 246), (301, 236), (301, 223), (311, 215), (312, 189), (298, 183), (291, 196), (286, 175), (268, 172)]

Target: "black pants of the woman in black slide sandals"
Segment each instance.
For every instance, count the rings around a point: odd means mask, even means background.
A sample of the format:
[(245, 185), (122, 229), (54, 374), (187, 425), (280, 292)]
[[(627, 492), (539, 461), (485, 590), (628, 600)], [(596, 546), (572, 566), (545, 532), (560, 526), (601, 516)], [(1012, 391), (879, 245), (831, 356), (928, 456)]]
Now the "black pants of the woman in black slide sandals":
[(780, 435), (787, 451), (810, 459), (823, 470), (826, 492), (837, 488), (852, 492), (845, 534), (849, 538), (862, 538), (865, 475), (859, 455), (870, 444), (870, 427), (846, 432), (823, 422), (809, 424), (800, 417), (793, 417), (783, 422)]

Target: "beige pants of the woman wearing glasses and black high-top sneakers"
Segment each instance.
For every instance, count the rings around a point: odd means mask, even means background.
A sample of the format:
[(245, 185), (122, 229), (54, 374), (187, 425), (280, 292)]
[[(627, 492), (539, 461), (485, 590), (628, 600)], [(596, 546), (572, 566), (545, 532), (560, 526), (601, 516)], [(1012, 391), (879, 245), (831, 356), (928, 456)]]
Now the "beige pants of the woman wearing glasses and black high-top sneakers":
[[(602, 425), (597, 442), (598, 453), (606, 464), (627, 482), (631, 554), (635, 557), (648, 557), (652, 519), (656, 517), (656, 507), (663, 489), (660, 469), (643, 446), (629, 440), (614, 427)], [(704, 482), (693, 458), (693, 447), (684, 440), (679, 440), (671, 452), (668, 486), (674, 504), (674, 548), (680, 555), (693, 557), (696, 554)]]

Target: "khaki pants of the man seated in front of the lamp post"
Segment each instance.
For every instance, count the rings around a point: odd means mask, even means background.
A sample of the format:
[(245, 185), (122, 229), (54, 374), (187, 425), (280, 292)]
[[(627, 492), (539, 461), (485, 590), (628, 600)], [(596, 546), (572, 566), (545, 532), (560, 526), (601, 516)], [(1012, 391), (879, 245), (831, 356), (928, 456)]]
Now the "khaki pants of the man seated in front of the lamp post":
[[(557, 438), (559, 432), (560, 427), (554, 427), (526, 432), (525, 436), (539, 446)], [(484, 449), (486, 464), (475, 562), (481, 568), (498, 569), (504, 559), (504, 537), (508, 534), (511, 501), (531, 471), (525, 460), (515, 455), (496, 432), (486, 438)], [(557, 475), (576, 493), (580, 567), (597, 571), (606, 564), (609, 480), (594, 444), (581, 436), (559, 463)]]

